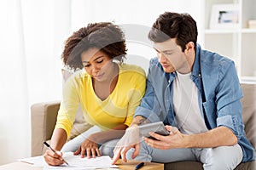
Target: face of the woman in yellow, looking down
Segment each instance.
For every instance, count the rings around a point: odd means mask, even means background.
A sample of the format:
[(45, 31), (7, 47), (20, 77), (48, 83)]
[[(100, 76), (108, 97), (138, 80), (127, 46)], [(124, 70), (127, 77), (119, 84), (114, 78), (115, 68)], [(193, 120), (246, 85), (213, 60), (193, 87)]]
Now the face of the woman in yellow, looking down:
[(108, 80), (111, 66), (113, 62), (108, 54), (103, 53), (98, 48), (90, 48), (81, 54), (82, 63), (85, 71), (90, 74), (90, 77), (96, 81), (103, 82)]

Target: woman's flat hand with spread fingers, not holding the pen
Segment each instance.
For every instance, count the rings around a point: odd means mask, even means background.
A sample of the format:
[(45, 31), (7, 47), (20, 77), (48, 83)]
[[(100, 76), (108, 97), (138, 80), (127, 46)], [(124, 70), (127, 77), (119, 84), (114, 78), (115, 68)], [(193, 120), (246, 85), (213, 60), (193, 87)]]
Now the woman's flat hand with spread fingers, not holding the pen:
[(74, 152), (74, 155), (79, 154), (81, 154), (81, 157), (84, 157), (86, 154), (88, 158), (90, 158), (90, 156), (101, 156), (100, 150), (98, 149), (98, 144), (90, 139), (85, 139), (83, 144), (80, 145), (79, 149)]

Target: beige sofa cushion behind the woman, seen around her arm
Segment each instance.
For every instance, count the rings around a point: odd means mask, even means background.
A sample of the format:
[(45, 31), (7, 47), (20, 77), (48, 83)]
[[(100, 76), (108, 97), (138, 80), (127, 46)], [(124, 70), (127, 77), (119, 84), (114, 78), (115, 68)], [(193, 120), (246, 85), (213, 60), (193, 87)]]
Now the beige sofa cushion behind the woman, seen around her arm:
[[(62, 84), (64, 86), (65, 82), (67, 81), (67, 78), (73, 74), (73, 71), (69, 71), (67, 69), (62, 69), (61, 72), (62, 72), (62, 77), (63, 77)], [(83, 133), (84, 131), (88, 130), (90, 127), (92, 127), (92, 126), (84, 120), (83, 111), (81, 110), (81, 107), (79, 106), (68, 140), (75, 138), (80, 133)]]

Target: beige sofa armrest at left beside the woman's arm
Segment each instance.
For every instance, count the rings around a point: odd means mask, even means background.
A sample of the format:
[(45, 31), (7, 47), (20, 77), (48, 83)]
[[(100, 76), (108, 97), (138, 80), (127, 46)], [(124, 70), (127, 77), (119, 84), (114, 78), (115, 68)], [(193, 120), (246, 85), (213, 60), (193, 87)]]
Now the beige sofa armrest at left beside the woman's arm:
[(32, 156), (44, 154), (44, 141), (49, 140), (55, 128), (60, 101), (37, 103), (31, 106)]

